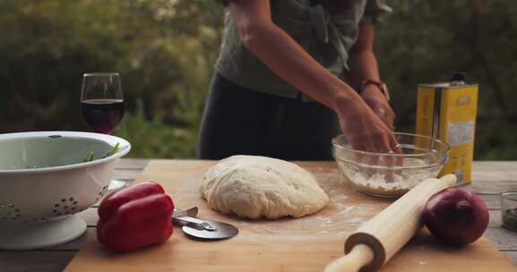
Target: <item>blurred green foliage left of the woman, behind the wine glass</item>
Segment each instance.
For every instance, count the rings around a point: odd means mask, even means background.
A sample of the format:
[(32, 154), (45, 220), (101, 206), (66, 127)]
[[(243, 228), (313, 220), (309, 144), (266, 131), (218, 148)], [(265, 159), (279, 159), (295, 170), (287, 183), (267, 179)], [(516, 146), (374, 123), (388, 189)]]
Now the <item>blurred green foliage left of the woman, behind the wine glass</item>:
[(83, 72), (120, 72), (133, 157), (193, 157), (223, 11), (211, 1), (3, 0), (0, 132), (82, 130)]

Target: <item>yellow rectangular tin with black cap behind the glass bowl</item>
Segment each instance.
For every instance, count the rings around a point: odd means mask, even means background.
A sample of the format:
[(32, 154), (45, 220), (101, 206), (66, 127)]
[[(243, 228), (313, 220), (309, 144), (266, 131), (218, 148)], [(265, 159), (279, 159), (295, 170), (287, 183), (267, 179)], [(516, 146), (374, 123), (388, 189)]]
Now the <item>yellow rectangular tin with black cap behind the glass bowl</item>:
[(418, 85), (417, 134), (451, 146), (440, 175), (456, 174), (457, 185), (471, 182), (478, 108), (478, 85), (451, 81)]

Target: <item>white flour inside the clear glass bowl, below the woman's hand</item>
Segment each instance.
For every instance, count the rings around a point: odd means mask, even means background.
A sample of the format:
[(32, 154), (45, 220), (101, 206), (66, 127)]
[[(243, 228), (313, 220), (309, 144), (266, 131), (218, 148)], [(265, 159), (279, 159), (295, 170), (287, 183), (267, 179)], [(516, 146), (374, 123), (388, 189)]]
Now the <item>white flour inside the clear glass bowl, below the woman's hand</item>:
[[(338, 160), (341, 171), (359, 191), (384, 197), (399, 197), (429, 177), (435, 177), (441, 167), (428, 167), (422, 159), (404, 157), (402, 169), (389, 171), (369, 166), (352, 166)], [(407, 168), (404, 168), (407, 167)]]

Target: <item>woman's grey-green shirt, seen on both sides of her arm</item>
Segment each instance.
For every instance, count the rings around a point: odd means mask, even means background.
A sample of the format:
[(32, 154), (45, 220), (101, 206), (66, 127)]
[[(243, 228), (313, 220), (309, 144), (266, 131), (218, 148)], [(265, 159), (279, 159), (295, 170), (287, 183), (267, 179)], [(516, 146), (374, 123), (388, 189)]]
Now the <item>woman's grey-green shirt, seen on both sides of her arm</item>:
[[(378, 0), (356, 0), (349, 9), (331, 14), (310, 0), (271, 0), (271, 19), (328, 71), (342, 76), (360, 23), (379, 21), (391, 8)], [(249, 51), (227, 11), (225, 35), (215, 69), (233, 83), (281, 97), (296, 98), (299, 89), (284, 81)], [(273, 45), (274, 46), (274, 45)]]

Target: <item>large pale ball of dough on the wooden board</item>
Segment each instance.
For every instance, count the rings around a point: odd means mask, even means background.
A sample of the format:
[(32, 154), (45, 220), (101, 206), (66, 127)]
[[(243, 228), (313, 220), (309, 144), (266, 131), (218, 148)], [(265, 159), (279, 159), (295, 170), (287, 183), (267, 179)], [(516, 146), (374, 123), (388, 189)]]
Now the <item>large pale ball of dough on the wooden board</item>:
[(302, 167), (259, 156), (221, 160), (203, 176), (200, 192), (210, 208), (253, 219), (303, 217), (329, 202), (313, 175)]

